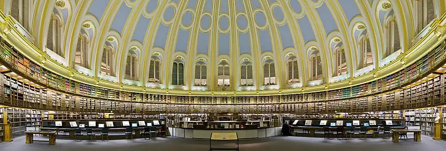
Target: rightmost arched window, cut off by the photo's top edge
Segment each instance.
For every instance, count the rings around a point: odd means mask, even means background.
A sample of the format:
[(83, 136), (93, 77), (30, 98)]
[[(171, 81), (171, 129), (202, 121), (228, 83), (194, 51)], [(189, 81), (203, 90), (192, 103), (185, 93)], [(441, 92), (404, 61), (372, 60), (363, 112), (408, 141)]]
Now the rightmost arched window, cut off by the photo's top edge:
[(416, 0), (417, 32), (420, 33), (435, 18), (434, 0)]

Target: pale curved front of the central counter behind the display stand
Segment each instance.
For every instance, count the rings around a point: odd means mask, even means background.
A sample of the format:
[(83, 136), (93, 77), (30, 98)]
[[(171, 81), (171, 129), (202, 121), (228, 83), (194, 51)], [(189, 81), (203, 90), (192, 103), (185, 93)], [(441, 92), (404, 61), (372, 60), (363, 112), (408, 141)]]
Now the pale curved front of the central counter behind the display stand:
[(256, 129), (240, 128), (168, 128), (174, 137), (192, 139), (211, 139), (211, 133), (237, 133), (238, 139), (257, 139), (281, 135), (282, 127), (259, 127)]

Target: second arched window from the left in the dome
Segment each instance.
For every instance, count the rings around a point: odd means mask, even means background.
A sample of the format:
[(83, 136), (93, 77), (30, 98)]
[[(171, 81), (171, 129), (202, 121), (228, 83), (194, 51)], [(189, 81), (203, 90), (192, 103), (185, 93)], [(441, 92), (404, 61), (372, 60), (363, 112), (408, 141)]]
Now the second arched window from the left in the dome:
[(61, 41), (62, 41), (61, 33), (62, 33), (62, 23), (60, 22), (60, 18), (57, 15), (52, 14), (50, 20), (50, 26), (48, 29), (47, 48), (52, 50), (59, 56), (64, 57), (63, 51), (61, 49)]

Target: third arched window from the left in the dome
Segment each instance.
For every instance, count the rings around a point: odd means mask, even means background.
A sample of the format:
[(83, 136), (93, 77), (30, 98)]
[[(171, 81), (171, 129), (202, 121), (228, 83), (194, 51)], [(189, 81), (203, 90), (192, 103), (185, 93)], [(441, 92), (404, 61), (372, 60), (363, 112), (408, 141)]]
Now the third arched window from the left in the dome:
[(88, 67), (88, 39), (86, 36), (79, 36), (77, 40), (76, 53), (75, 53), (75, 64), (85, 68)]

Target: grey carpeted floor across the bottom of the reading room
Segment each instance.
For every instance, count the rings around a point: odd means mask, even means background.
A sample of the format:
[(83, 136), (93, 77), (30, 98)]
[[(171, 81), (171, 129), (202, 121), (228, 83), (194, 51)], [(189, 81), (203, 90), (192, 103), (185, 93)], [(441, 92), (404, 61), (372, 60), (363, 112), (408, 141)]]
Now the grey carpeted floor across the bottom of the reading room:
[[(409, 138), (412, 137), (409, 135)], [(44, 139), (35, 137), (35, 139)], [(445, 141), (434, 141), (422, 136), (422, 142), (404, 140), (392, 143), (391, 139), (336, 140), (292, 136), (276, 136), (240, 141), (240, 151), (445, 151)], [(228, 142), (229, 143), (229, 142)], [(219, 145), (214, 144), (213, 145)], [(232, 147), (235, 144), (232, 144)], [(230, 147), (229, 145), (219, 145)], [(156, 138), (152, 140), (111, 140), (74, 142), (56, 140), (55, 146), (47, 142), (25, 144), (25, 137), (15, 138), (11, 143), (0, 143), (0, 151), (209, 151), (208, 140), (182, 138)]]

